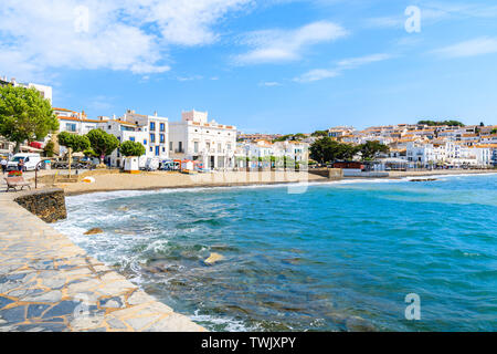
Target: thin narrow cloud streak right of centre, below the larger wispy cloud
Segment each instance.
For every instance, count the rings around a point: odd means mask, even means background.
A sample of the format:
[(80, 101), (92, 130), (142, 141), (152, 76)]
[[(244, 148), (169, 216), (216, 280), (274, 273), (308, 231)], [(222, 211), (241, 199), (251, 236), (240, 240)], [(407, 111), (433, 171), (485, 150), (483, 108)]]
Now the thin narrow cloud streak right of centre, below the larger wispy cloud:
[(314, 69), (303, 75), (295, 77), (295, 82), (309, 83), (340, 75), (345, 70), (356, 69), (366, 64), (381, 62), (391, 59), (390, 54), (371, 54), (359, 58), (345, 59), (335, 64), (331, 69)]

